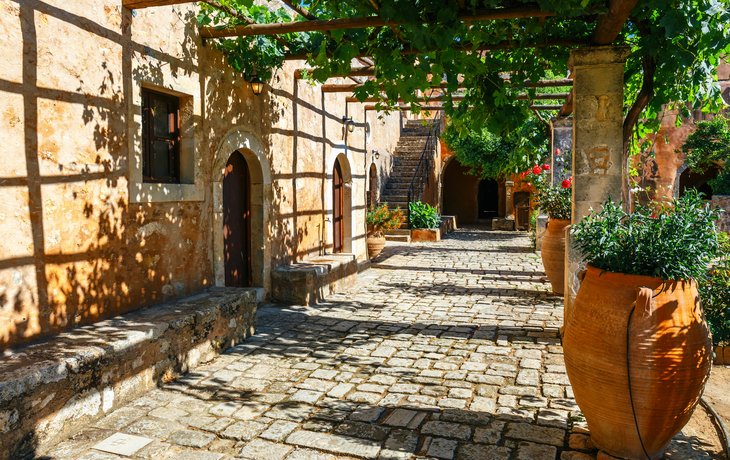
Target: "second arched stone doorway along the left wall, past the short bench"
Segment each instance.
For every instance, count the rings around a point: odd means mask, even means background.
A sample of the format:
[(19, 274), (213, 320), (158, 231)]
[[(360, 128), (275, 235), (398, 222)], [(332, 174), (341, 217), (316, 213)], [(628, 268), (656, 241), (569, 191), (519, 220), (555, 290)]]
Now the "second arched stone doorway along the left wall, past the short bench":
[(329, 220), (327, 246), (333, 252), (353, 253), (352, 170), (344, 150), (332, 153), (328, 169), (329, 175), (325, 184), (325, 209)]

